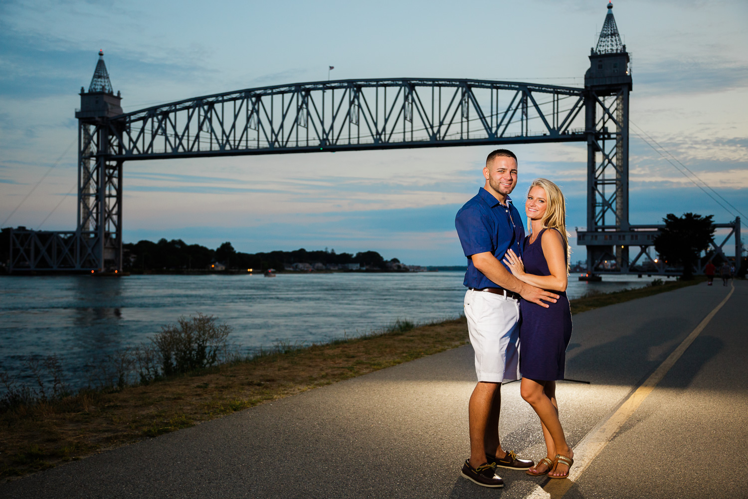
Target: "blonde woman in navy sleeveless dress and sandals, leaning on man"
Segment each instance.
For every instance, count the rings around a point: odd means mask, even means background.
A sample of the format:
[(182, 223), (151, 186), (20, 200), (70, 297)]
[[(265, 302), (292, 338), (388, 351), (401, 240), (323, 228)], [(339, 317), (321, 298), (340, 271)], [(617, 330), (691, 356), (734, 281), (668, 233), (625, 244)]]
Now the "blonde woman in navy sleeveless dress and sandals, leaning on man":
[(512, 250), (504, 263), (520, 281), (560, 295), (544, 308), (521, 300), (520, 392), (540, 417), (548, 456), (527, 474), (568, 477), (574, 453), (566, 444), (556, 402), (556, 380), (564, 377), (565, 352), (571, 338), (568, 284), (568, 234), (561, 189), (546, 179), (530, 184), (525, 203), (530, 235), (524, 239), (524, 261)]

